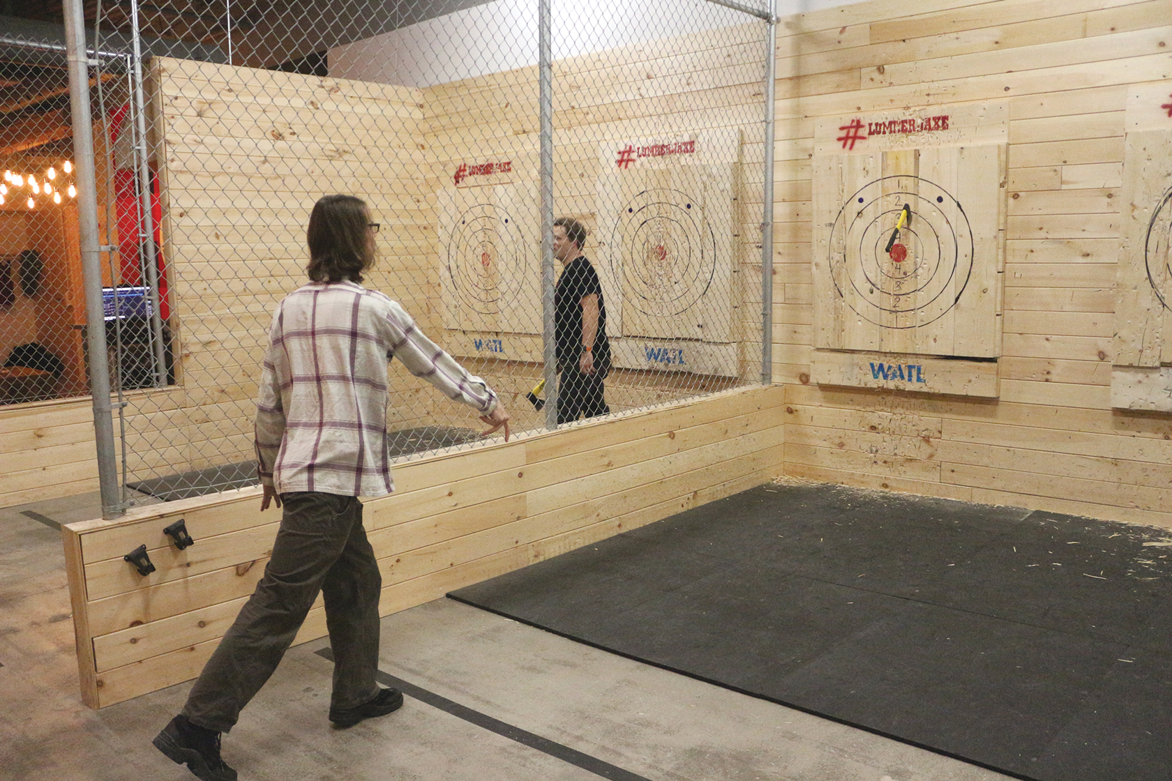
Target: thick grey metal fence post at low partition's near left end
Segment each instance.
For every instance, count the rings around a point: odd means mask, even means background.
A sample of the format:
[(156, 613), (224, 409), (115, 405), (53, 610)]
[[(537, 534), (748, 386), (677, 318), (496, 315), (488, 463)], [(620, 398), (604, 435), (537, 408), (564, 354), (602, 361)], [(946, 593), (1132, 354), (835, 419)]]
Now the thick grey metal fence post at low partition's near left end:
[(97, 240), (97, 184), (94, 171), (94, 128), (89, 107), (89, 66), (81, 0), (64, 0), (66, 52), (69, 60), (69, 105), (73, 117), (74, 164), (77, 183), (77, 227), (86, 286), (86, 327), (89, 347), (89, 389), (94, 399), (94, 437), (102, 518), (123, 514), (114, 451), (110, 371), (105, 351), (102, 307), (101, 247)]

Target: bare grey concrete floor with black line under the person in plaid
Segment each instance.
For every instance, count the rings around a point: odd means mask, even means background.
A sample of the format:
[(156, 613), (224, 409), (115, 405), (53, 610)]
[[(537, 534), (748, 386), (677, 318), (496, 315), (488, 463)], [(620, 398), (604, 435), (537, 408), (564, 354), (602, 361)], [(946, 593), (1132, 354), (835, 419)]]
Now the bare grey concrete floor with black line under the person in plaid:
[[(79, 697), (52, 523), (95, 518), (96, 505), (84, 495), (0, 509), (2, 781), (195, 777), (150, 745), (190, 684), (102, 711)], [(291, 649), (224, 739), (241, 780), (1009, 777), (449, 600), (388, 616), (382, 628), (382, 672), (420, 697), (382, 719), (331, 729), (332, 665), (318, 653), (328, 644)], [(544, 741), (509, 737), (522, 732)]]

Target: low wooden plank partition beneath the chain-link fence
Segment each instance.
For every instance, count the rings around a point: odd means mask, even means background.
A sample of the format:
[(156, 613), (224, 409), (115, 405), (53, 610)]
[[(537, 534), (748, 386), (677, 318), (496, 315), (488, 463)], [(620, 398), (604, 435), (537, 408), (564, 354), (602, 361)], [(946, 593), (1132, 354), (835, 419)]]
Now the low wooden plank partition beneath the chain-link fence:
[[(768, 481), (781, 470), (783, 389), (724, 391), (608, 422), (395, 468), (364, 522), (382, 615)], [(102, 707), (188, 680), (260, 578), (279, 512), (257, 488), (64, 529), (82, 694)], [(163, 528), (184, 519), (195, 546)], [(157, 570), (122, 556), (145, 544)], [(299, 642), (326, 633), (321, 604)]]

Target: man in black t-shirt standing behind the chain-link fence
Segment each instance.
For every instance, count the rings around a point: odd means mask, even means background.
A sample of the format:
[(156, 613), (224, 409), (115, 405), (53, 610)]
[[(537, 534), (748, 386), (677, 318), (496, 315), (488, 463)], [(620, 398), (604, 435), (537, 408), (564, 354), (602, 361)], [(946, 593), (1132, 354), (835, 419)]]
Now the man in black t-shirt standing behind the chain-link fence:
[(606, 415), (602, 378), (611, 371), (606, 303), (598, 273), (582, 255), (586, 228), (561, 217), (553, 222), (553, 256), (564, 268), (553, 288), (558, 356), (558, 423)]

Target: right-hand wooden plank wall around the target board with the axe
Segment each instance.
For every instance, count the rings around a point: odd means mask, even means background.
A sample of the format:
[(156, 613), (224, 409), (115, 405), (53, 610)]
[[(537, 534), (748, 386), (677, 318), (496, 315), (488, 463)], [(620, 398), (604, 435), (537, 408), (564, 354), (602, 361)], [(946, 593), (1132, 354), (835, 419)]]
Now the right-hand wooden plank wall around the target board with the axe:
[[(775, 381), (785, 472), (1172, 526), (1172, 420), (1112, 411), (1129, 85), (1172, 93), (1172, 2), (864, 2), (784, 20), (778, 43)], [(1008, 100), (1000, 399), (810, 379), (818, 117)]]

